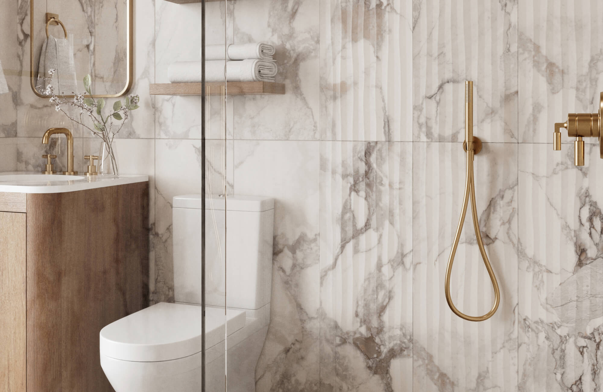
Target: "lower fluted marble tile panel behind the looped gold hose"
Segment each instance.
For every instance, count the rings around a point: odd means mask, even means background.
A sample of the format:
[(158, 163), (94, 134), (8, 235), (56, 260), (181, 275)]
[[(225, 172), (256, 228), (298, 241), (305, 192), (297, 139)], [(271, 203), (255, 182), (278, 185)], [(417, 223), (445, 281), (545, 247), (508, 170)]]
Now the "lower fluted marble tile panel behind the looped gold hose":
[[(482, 238), (501, 301), (480, 323), (450, 311), (444, 274), (463, 202), (466, 154), (460, 143), (415, 143), (413, 156), (414, 390), (517, 390), (517, 145), (484, 144), (475, 157)], [(452, 270), (453, 302), (488, 312), (494, 292), (467, 210)]]

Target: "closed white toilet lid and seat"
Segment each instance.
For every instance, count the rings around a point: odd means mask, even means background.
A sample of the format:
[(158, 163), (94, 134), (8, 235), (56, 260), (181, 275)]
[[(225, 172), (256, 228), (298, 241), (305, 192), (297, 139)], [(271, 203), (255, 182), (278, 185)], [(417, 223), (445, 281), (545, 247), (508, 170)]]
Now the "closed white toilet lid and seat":
[[(201, 306), (160, 302), (101, 329), (101, 355), (123, 361), (155, 362), (201, 351)], [(245, 325), (245, 311), (205, 308), (206, 349)]]

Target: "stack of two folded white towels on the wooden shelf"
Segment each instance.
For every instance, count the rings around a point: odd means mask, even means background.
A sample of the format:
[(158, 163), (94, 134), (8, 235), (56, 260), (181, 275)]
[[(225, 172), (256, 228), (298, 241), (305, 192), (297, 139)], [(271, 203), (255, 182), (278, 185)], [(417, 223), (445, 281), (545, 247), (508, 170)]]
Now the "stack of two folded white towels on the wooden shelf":
[[(226, 55), (226, 60), (224, 59)], [(205, 81), (274, 81), (278, 68), (274, 46), (266, 43), (207, 45)], [(226, 75), (224, 62), (226, 61)], [(168, 68), (171, 83), (201, 83), (201, 62), (175, 62)]]

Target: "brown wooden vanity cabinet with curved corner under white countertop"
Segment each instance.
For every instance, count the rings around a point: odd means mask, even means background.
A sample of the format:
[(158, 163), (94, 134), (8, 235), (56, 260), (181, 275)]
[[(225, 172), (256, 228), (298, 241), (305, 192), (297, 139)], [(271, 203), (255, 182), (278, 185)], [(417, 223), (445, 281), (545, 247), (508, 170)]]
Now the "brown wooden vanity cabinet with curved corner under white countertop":
[(0, 193), (0, 392), (110, 392), (99, 332), (148, 306), (148, 182)]

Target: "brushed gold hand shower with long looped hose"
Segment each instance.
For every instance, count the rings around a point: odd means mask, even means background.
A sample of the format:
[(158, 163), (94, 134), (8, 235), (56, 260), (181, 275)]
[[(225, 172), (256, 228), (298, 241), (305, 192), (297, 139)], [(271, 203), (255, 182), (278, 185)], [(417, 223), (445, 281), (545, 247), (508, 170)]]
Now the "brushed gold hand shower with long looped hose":
[[(488, 320), (488, 318), (492, 317), (498, 306), (500, 304), (500, 290), (498, 287), (498, 282), (496, 281), (496, 276), (494, 276), (494, 271), (492, 270), (492, 266), (490, 265), (490, 261), (488, 260), (488, 255), (486, 254), (486, 250), (484, 248), (484, 241), (482, 240), (482, 235), (479, 230), (479, 221), (478, 221), (478, 209), (475, 204), (475, 184), (473, 181), (473, 157), (475, 156), (475, 147), (476, 142), (473, 138), (473, 82), (466, 81), (465, 82), (465, 136), (467, 141), (471, 141), (467, 144), (467, 175), (465, 179), (465, 195), (463, 197), (463, 210), (461, 210), (461, 217), (458, 221), (458, 227), (456, 227), (456, 235), (454, 238), (454, 242), (452, 244), (452, 249), (450, 250), (450, 257), (448, 258), (448, 265), (446, 266), (446, 277), (444, 280), (444, 292), (446, 293), (446, 302), (450, 309), (456, 314), (458, 317), (463, 318), (467, 321), (484, 321)], [(479, 139), (478, 139), (479, 140)], [(481, 142), (480, 142), (481, 144)], [(461, 239), (461, 232), (463, 232), (463, 224), (465, 223), (465, 215), (467, 213), (467, 204), (471, 200), (471, 215), (473, 218), (473, 230), (475, 230), (475, 237), (478, 241), (479, 253), (482, 255), (482, 259), (484, 260), (484, 265), (486, 270), (488, 270), (488, 275), (490, 275), (490, 280), (492, 282), (492, 286), (494, 288), (494, 304), (492, 305), (492, 309), (484, 315), (481, 316), (470, 316), (466, 315), (463, 312), (456, 309), (456, 306), (452, 302), (452, 297), (450, 296), (450, 276), (452, 274), (452, 264), (454, 262), (454, 256), (456, 254), (456, 248), (458, 247), (458, 242)]]

